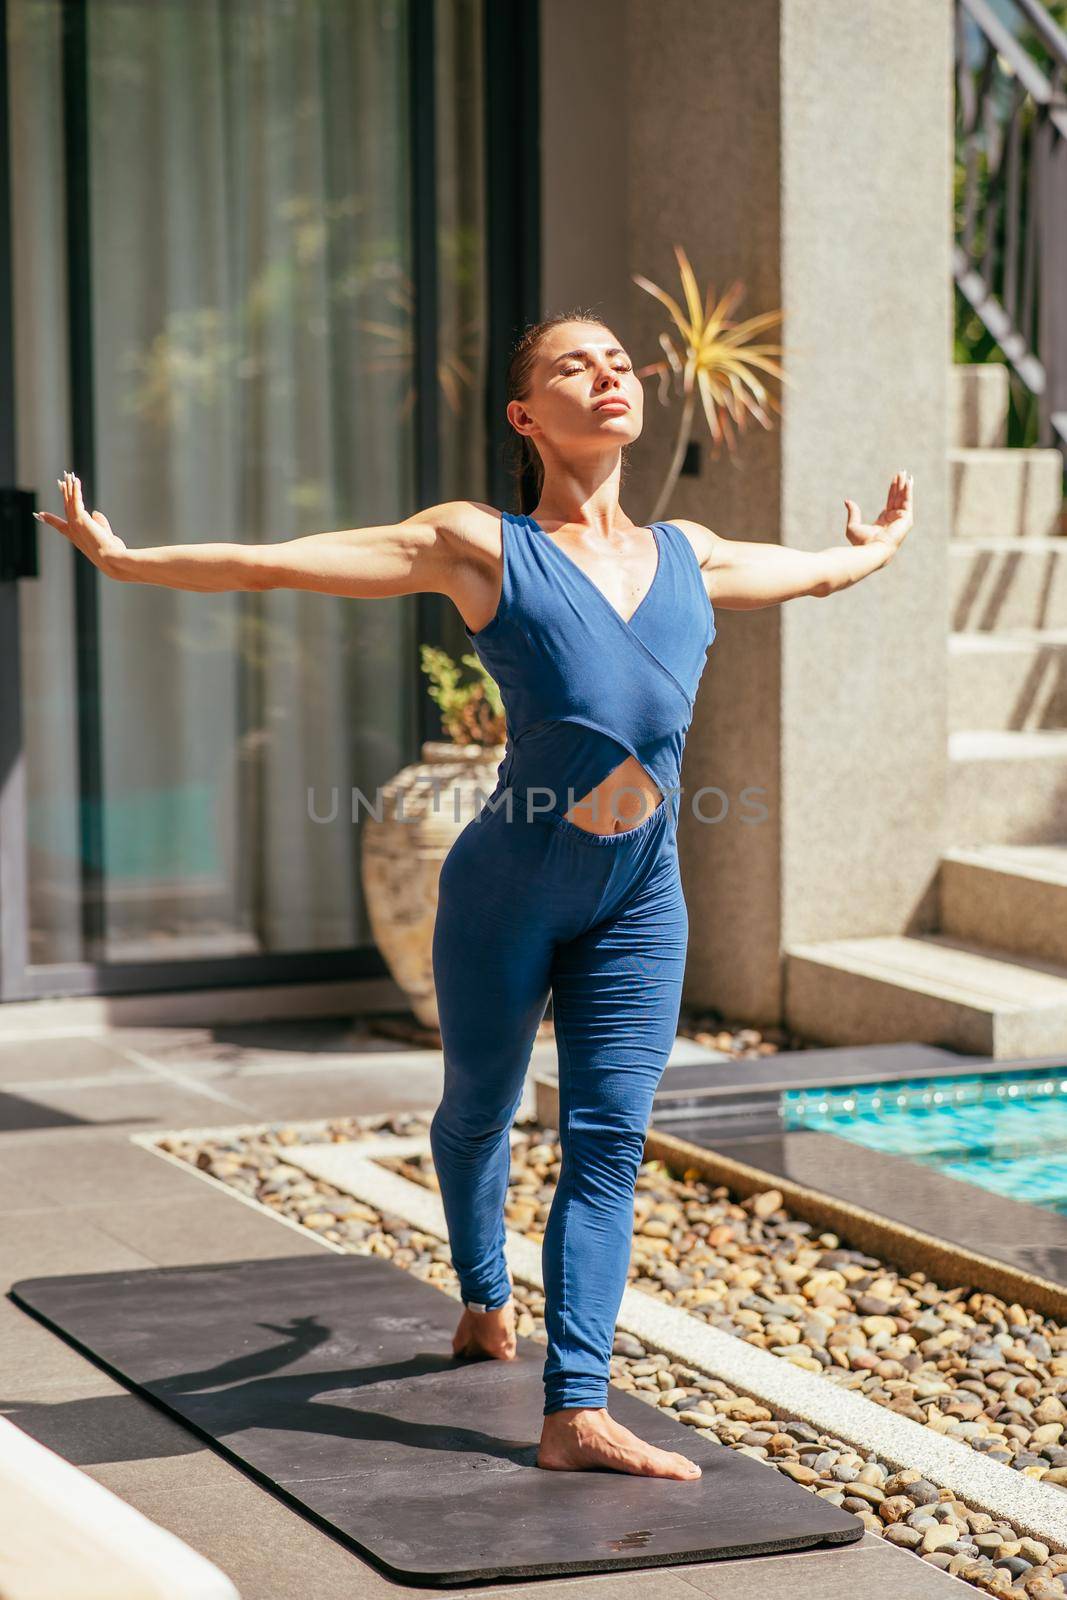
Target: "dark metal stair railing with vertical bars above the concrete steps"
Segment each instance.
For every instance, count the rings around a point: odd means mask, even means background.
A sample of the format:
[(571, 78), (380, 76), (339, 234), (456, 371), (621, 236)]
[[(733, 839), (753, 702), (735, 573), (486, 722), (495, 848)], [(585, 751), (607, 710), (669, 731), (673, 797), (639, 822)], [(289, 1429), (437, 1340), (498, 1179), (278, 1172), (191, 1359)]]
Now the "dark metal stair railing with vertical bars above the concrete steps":
[(1067, 464), (1067, 32), (1041, 0), (957, 0), (955, 30), (955, 282)]

